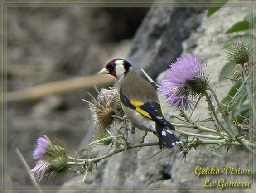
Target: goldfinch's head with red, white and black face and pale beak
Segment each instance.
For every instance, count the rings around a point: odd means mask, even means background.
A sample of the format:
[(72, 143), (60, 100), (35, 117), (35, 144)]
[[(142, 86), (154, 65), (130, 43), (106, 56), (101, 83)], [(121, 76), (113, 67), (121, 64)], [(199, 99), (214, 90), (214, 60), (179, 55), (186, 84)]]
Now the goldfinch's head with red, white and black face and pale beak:
[(124, 59), (113, 59), (98, 74), (111, 74), (121, 80), (129, 72), (131, 64)]

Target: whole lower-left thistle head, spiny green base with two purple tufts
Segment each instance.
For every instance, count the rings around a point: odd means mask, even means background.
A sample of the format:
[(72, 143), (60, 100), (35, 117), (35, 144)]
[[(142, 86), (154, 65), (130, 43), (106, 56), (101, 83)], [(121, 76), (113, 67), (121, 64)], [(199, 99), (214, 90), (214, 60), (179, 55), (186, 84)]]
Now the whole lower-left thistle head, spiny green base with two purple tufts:
[(46, 135), (37, 140), (37, 146), (33, 153), (34, 159), (40, 159), (31, 173), (38, 182), (43, 177), (64, 174), (67, 169), (66, 148), (63, 143), (54, 138), (50, 140)]

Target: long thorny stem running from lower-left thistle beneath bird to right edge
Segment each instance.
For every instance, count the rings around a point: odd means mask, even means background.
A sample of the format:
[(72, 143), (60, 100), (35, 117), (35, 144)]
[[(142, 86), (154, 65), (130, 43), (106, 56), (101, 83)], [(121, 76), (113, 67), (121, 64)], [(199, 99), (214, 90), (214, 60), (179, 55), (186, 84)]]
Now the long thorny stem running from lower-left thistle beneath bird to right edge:
[[(189, 139), (188, 142), (189, 143), (193, 143), (194, 139)], [(197, 144), (220, 144), (220, 143), (223, 143), (225, 142), (225, 140), (196, 140), (195, 143)], [(109, 154), (105, 154), (105, 155), (102, 155), (102, 156), (99, 156), (97, 158), (92, 158), (92, 159), (77, 159), (77, 158), (74, 158), (74, 157), (71, 157), (71, 156), (68, 156), (67, 158), (71, 160), (71, 162), (68, 162), (67, 164), (68, 165), (84, 165), (84, 164), (90, 164), (90, 163), (93, 163), (93, 162), (98, 162), (100, 161), (101, 159), (106, 159), (108, 157), (111, 157), (112, 155), (114, 154), (118, 154), (122, 151), (126, 151), (126, 150), (130, 150), (130, 149), (134, 149), (134, 148), (138, 148), (138, 147), (146, 147), (146, 146), (156, 146), (156, 145), (159, 145), (159, 142), (153, 142), (153, 143), (139, 143), (139, 144), (133, 144), (133, 145), (129, 145), (128, 147), (126, 148), (121, 148), (119, 150), (115, 150)], [(241, 145), (240, 143), (238, 142), (231, 142), (230, 145)], [(251, 146), (252, 147), (252, 143), (246, 143), (246, 145), (248, 146)]]

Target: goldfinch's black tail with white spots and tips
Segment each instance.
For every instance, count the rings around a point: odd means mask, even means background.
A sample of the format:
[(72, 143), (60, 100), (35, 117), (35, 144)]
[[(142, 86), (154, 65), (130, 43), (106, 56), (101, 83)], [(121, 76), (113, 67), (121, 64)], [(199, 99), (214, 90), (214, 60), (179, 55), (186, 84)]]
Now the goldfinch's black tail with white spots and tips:
[(156, 123), (155, 129), (166, 148), (172, 148), (176, 144), (183, 145), (182, 141), (164, 125)]

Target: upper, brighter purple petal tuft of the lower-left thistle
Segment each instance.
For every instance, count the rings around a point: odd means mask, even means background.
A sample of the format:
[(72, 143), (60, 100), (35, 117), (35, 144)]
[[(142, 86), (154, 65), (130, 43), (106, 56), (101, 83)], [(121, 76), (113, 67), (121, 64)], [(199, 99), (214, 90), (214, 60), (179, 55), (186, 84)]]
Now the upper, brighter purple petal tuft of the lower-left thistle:
[(42, 159), (46, 152), (48, 145), (51, 145), (51, 141), (46, 135), (37, 139), (37, 145), (33, 152), (33, 159)]

